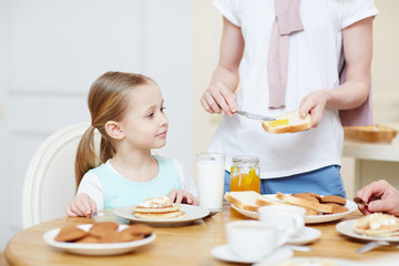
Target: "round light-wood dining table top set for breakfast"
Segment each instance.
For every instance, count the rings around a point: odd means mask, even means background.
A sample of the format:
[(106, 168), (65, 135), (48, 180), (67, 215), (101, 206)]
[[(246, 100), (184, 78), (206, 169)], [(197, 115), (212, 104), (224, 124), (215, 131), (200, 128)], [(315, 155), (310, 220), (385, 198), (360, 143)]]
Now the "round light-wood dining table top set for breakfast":
[[(356, 250), (365, 244), (338, 233), (335, 228), (340, 221), (360, 217), (359, 211), (328, 223), (308, 224), (321, 236), (307, 244), (311, 252), (295, 252), (294, 256), (332, 257), (367, 262), (397, 252), (396, 247), (379, 247), (365, 254)], [(117, 219), (109, 212), (108, 221)], [(226, 244), (225, 224), (229, 221), (249, 219), (225, 203), (223, 212), (197, 219), (192, 224), (174, 227), (154, 227), (156, 239), (133, 252), (111, 256), (84, 256), (54, 249), (43, 241), (43, 234), (66, 225), (90, 224), (85, 217), (61, 217), (25, 228), (13, 236), (6, 248), (9, 265), (235, 265), (213, 257), (212, 248)]]

